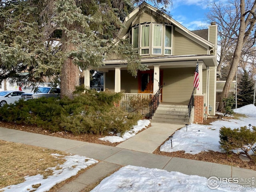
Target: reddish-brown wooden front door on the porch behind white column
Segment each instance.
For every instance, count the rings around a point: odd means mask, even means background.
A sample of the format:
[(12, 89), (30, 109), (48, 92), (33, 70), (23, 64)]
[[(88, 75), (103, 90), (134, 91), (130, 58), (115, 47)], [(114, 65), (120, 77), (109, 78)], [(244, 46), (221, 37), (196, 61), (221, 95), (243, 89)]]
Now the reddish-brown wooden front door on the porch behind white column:
[(139, 73), (139, 93), (153, 93), (154, 71), (147, 70)]

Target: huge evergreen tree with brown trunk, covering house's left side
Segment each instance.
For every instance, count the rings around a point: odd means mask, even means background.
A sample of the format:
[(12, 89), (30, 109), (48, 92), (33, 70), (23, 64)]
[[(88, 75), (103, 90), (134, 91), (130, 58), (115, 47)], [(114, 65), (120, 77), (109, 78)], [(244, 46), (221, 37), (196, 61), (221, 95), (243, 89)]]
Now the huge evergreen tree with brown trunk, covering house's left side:
[[(154, 5), (168, 0), (150, 0)], [(24, 78), (38, 82), (60, 73), (61, 97), (72, 98), (79, 68), (98, 68), (107, 52), (127, 60), (137, 75), (147, 66), (125, 40), (116, 39), (122, 21), (142, 0), (4, 0), (0, 1), (0, 82)], [(170, 1), (171, 2), (171, 1)], [(113, 40), (116, 40), (114, 44)], [(18, 79), (16, 78), (16, 79)], [(35, 79), (36, 78), (36, 79)]]

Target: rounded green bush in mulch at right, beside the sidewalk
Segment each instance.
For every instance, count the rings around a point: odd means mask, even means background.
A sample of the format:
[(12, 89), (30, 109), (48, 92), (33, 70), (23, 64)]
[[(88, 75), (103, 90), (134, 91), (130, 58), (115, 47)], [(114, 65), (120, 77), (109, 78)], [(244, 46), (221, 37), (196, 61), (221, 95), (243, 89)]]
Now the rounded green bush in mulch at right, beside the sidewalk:
[(246, 126), (236, 128), (220, 128), (220, 147), (226, 152), (242, 149), (246, 155), (256, 144), (256, 126), (252, 129)]

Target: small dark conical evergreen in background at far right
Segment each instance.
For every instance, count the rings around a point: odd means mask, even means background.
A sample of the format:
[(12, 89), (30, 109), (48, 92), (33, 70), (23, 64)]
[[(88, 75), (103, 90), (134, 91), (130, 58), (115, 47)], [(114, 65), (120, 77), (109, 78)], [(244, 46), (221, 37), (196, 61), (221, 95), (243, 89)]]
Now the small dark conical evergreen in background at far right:
[(245, 70), (238, 84), (237, 106), (242, 107), (253, 103), (254, 83)]

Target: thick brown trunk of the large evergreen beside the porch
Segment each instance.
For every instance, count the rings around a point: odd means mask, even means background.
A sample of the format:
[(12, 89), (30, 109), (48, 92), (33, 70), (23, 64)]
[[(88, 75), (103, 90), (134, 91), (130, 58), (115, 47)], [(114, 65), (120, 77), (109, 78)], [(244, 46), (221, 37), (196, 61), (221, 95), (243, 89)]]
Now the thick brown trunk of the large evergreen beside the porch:
[[(75, 49), (73, 44), (66, 44), (66, 42), (67, 39), (64, 34), (62, 35), (63, 52), (70, 52)], [(79, 86), (79, 67), (73, 63), (71, 58), (65, 58), (60, 76), (60, 98), (63, 98), (64, 96), (73, 98), (73, 92), (76, 89), (76, 86)]]

